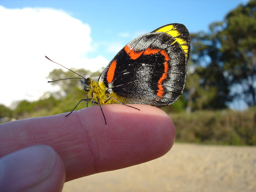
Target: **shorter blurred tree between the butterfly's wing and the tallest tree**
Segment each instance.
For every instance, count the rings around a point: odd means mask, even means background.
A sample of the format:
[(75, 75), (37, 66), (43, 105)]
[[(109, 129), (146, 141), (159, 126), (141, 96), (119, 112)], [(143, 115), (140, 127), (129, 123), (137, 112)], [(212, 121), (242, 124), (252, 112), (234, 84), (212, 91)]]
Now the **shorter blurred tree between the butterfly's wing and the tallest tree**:
[(226, 108), (229, 97), (215, 27), (210, 33), (191, 34), (191, 57), (185, 96), (187, 110)]

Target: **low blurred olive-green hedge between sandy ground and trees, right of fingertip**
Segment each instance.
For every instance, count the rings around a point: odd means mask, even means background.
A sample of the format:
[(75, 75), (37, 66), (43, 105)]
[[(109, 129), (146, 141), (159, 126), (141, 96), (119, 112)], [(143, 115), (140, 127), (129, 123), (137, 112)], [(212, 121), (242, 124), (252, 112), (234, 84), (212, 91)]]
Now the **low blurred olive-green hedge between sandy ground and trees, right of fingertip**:
[(256, 108), (170, 114), (176, 140), (227, 145), (256, 145)]

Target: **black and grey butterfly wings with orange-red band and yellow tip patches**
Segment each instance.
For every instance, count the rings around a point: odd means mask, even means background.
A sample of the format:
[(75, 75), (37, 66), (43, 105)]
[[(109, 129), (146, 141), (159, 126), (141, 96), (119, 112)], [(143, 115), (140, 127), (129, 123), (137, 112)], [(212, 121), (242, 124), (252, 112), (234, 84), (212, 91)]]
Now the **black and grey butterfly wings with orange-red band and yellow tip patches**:
[(172, 23), (128, 43), (102, 72), (109, 93), (128, 103), (169, 105), (183, 93), (190, 38), (187, 28)]

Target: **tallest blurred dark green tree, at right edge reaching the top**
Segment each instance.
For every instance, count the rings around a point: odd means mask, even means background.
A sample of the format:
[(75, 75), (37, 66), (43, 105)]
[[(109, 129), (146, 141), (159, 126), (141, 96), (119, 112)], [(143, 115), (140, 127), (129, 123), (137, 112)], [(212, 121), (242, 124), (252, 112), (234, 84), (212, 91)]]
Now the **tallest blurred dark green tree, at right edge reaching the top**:
[[(256, 105), (256, 0), (228, 13), (218, 37), (233, 96)], [(235, 89), (236, 87), (236, 89)]]

